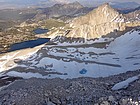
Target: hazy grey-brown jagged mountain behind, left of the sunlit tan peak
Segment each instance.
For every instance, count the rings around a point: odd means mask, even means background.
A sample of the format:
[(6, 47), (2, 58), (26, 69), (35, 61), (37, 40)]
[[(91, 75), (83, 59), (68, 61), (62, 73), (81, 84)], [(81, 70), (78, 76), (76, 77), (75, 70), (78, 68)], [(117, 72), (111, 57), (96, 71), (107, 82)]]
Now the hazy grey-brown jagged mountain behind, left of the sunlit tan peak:
[(73, 2), (68, 4), (55, 4), (52, 7), (38, 8), (39, 14), (37, 14), (36, 19), (41, 18), (46, 15), (47, 18), (70, 18), (77, 17), (83, 14), (87, 14), (93, 8), (84, 7), (79, 2)]

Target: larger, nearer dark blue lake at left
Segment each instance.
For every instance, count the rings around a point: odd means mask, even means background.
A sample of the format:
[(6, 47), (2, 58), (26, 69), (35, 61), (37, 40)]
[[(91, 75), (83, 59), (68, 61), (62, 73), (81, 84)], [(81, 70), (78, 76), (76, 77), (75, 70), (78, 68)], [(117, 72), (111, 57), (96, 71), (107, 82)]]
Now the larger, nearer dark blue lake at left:
[(38, 38), (37, 40), (30, 40), (30, 41), (25, 41), (21, 43), (16, 43), (10, 46), (10, 52), (15, 51), (15, 50), (20, 50), (20, 49), (25, 49), (25, 48), (33, 48), (35, 46), (44, 44), (48, 42), (50, 39), (48, 38)]

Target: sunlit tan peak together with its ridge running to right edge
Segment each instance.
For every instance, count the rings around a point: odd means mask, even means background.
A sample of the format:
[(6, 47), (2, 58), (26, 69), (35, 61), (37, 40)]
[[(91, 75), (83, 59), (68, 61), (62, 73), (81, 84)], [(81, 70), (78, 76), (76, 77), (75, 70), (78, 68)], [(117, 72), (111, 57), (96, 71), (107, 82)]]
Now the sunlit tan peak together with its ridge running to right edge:
[(69, 26), (66, 26), (69, 27), (69, 33), (60, 34), (62, 32), (60, 31), (59, 33), (58, 31), (55, 35), (62, 35), (67, 38), (94, 39), (114, 31), (124, 31), (126, 27), (135, 27), (138, 25), (140, 25), (138, 19), (135, 21), (130, 20), (106, 3), (87, 15), (73, 20)]

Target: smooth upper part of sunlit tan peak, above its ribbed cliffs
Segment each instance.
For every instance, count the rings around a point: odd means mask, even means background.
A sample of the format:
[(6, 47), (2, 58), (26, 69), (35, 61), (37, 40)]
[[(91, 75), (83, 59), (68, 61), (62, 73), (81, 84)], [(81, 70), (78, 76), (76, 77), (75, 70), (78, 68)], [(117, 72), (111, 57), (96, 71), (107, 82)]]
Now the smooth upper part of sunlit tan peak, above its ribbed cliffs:
[(108, 3), (105, 3), (98, 8), (94, 9), (85, 16), (79, 17), (74, 20), (74, 26), (81, 26), (83, 24), (96, 25), (112, 22), (115, 18), (121, 14), (115, 9), (110, 7)]

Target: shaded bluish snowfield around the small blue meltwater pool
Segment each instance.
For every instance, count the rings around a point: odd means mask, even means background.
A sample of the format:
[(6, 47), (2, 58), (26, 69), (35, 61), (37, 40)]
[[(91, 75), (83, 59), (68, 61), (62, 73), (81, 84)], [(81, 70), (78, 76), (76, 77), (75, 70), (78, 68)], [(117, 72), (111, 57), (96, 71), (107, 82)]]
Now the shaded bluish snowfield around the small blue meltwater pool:
[[(112, 41), (105, 48), (48, 48), (46, 52), (50, 56), (38, 57), (40, 60), (29, 59), (30, 67), (51, 69), (54, 72), (67, 75), (51, 74), (49, 77), (55, 78), (77, 78), (77, 77), (107, 77), (140, 68), (140, 36), (138, 31), (128, 32)], [(97, 41), (96, 41), (97, 42)], [(62, 46), (62, 45), (61, 45)], [(45, 48), (44, 48), (45, 49)], [(57, 50), (63, 50), (59, 52)], [(77, 51), (76, 51), (77, 50)], [(80, 55), (79, 52), (85, 53)], [(88, 52), (95, 52), (98, 55), (89, 56)], [(112, 53), (100, 55), (101, 53)], [(74, 57), (69, 57), (69, 55)], [(63, 58), (64, 57), (64, 58)], [(75, 59), (71, 61), (71, 59)], [(78, 61), (81, 61), (80, 63)], [(95, 61), (95, 62), (94, 62)], [(97, 63), (96, 63), (97, 62)], [(52, 65), (53, 67), (48, 67)]]

